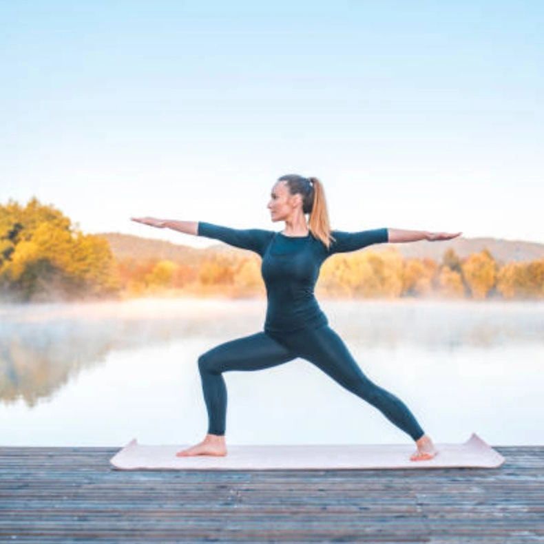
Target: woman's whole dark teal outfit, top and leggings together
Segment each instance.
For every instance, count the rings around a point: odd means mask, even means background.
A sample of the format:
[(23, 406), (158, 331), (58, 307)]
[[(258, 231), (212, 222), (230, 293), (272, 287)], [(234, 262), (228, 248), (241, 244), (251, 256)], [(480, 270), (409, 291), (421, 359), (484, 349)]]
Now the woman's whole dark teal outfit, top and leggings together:
[(404, 402), (364, 375), (342, 338), (328, 326), (313, 294), (326, 258), (388, 242), (388, 230), (331, 234), (335, 241), (327, 249), (311, 233), (285, 236), (264, 229), (232, 229), (198, 222), (198, 236), (249, 249), (262, 257), (261, 273), (268, 300), (264, 331), (220, 344), (198, 358), (210, 434), (225, 432), (227, 388), (222, 373), (261, 370), (302, 357), (375, 406), (412, 439), (423, 436), (423, 429)]

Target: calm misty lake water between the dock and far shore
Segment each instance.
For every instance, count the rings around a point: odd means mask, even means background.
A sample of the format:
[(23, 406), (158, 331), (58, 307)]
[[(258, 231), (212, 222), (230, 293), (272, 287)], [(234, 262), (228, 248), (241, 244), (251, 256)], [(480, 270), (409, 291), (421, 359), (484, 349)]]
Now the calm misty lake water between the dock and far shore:
[[(364, 373), (436, 442), (544, 444), (544, 304), (322, 300)], [(0, 444), (189, 444), (197, 359), (262, 330), (264, 300), (0, 306)], [(227, 443), (411, 443), (304, 359), (224, 374)]]

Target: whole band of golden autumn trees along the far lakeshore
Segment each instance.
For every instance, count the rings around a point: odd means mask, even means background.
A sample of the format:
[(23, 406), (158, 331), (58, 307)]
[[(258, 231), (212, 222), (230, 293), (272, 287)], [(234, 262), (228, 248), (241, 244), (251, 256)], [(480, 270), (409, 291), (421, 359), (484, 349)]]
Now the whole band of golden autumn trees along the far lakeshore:
[[(434, 242), (439, 243), (439, 242)], [(389, 251), (390, 250), (390, 251)], [(0, 205), (0, 297), (3, 302), (123, 300), (160, 296), (264, 296), (261, 259), (250, 251), (195, 250), (191, 258), (116, 257), (108, 240), (84, 234), (51, 205)], [(196, 257), (194, 256), (196, 255)], [(433, 297), (474, 300), (544, 298), (544, 258), (496, 262), (488, 249), (464, 258), (404, 258), (372, 247), (328, 258), (317, 296)]]

